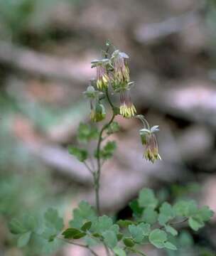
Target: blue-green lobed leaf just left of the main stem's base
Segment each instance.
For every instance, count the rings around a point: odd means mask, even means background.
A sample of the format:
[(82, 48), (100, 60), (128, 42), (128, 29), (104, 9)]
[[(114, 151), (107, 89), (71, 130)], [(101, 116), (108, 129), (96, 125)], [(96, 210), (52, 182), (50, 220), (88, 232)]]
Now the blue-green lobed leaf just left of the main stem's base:
[(80, 229), (86, 222), (91, 221), (94, 223), (96, 219), (97, 216), (92, 206), (85, 201), (81, 201), (78, 208), (73, 210), (73, 219), (70, 220), (70, 226), (72, 228)]

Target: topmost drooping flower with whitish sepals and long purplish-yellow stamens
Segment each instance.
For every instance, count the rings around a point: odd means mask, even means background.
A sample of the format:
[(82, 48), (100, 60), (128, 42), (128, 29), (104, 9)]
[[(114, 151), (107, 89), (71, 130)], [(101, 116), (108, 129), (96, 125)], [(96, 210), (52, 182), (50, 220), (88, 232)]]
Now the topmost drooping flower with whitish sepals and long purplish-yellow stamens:
[(126, 59), (129, 56), (126, 53), (121, 53), (119, 50), (115, 50), (112, 53), (112, 64), (114, 68), (114, 84), (121, 86), (121, 84), (128, 83), (129, 77), (129, 67), (126, 63)]

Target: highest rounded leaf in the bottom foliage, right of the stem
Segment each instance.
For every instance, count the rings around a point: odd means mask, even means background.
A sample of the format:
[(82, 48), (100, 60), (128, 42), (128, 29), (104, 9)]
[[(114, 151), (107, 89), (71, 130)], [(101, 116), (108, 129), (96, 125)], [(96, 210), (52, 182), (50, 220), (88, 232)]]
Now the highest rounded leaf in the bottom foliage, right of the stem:
[(154, 193), (149, 188), (143, 188), (139, 192), (138, 198), (139, 206), (141, 207), (148, 207), (148, 208), (156, 208), (158, 205), (158, 199), (154, 196)]

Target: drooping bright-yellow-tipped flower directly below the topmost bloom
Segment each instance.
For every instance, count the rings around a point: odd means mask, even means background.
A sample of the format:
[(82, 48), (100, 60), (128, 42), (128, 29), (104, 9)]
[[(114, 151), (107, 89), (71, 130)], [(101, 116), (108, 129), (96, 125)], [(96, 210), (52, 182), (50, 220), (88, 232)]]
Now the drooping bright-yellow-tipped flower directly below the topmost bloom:
[(134, 107), (134, 104), (131, 102), (129, 90), (122, 90), (120, 92), (120, 102), (120, 114), (124, 118), (134, 117), (134, 115), (136, 114), (136, 108)]

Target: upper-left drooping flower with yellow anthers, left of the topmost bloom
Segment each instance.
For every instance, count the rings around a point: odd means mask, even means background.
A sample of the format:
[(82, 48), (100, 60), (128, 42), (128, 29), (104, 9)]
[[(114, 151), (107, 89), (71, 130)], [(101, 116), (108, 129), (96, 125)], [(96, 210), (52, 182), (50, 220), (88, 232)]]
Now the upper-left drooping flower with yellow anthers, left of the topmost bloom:
[(108, 59), (92, 61), (92, 68), (96, 67), (97, 69), (96, 85), (99, 90), (106, 90), (109, 86), (109, 76), (106, 68), (107, 63), (109, 63)]

